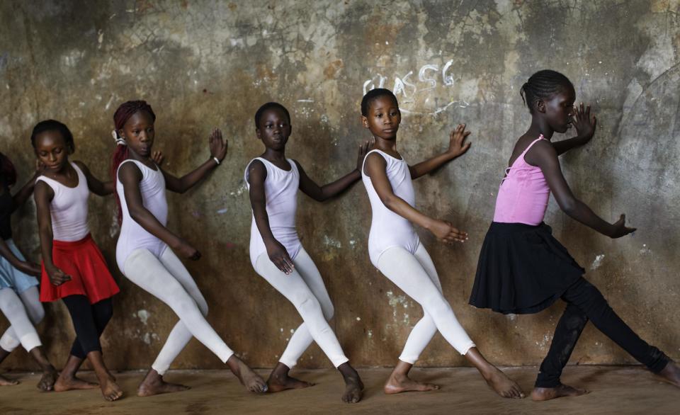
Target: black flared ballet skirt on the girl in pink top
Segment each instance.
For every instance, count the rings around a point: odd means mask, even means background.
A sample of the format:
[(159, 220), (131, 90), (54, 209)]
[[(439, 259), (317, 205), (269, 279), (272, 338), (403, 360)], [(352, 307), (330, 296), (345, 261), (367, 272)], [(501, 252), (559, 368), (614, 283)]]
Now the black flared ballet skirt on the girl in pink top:
[(492, 222), (470, 304), (503, 314), (540, 312), (585, 272), (547, 224)]

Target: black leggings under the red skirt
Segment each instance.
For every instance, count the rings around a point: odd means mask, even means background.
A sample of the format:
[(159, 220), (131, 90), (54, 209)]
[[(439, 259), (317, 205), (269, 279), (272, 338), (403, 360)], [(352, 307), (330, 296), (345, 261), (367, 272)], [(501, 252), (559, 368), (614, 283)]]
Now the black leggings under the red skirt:
[(99, 336), (106, 328), (106, 324), (113, 316), (113, 301), (106, 298), (100, 302), (90, 304), (84, 295), (69, 295), (62, 301), (69, 309), (76, 340), (73, 342), (71, 354), (84, 359), (87, 353), (101, 351)]

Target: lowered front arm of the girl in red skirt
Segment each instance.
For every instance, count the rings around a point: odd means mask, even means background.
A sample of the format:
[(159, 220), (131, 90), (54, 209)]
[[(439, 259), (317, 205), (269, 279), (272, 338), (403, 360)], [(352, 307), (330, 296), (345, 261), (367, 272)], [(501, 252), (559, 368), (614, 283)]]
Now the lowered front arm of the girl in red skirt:
[(42, 253), (42, 263), (45, 265), (45, 272), (50, 277), (52, 285), (62, 285), (71, 280), (71, 275), (55, 266), (52, 261), (52, 216), (50, 215), (50, 202), (55, 197), (47, 183), (39, 181), (35, 183), (35, 207), (38, 210), (38, 234), (40, 234), (40, 252)]

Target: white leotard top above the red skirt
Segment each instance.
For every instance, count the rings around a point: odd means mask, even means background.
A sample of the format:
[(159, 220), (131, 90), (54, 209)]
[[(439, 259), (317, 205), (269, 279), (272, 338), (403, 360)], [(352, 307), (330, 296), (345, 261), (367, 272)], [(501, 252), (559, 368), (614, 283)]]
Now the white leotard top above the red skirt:
[(44, 181), (55, 192), (50, 203), (50, 216), (52, 237), (57, 241), (79, 241), (90, 233), (87, 226), (87, 198), (90, 195), (87, 178), (75, 163), (71, 165), (78, 175), (78, 186), (74, 188), (49, 177), (38, 177), (38, 181)]

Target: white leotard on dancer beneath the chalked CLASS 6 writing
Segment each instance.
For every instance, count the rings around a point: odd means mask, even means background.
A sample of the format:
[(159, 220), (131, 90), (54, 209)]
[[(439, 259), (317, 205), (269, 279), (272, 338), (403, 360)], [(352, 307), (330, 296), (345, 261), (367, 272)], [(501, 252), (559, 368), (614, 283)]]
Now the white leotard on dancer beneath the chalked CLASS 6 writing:
[[(381, 152), (378, 149), (371, 150), (368, 154), (373, 152), (380, 154), (387, 162), (385, 173), (387, 174), (387, 179), (390, 180), (390, 185), (392, 185), (392, 191), (395, 195), (415, 207), (416, 195), (413, 190), (409, 165), (406, 161), (404, 159), (395, 159), (390, 154)], [(368, 159), (368, 154), (366, 154), (364, 164), (365, 160)], [(378, 193), (375, 192), (370, 177), (366, 176), (363, 172), (363, 166), (361, 166), (361, 179), (368, 193), (371, 210), (373, 210), (373, 217), (370, 221), (370, 233), (368, 234), (368, 255), (370, 256), (370, 262), (375, 267), (378, 267), (378, 258), (387, 248), (392, 246), (401, 246), (411, 254), (415, 254), (420, 244), (420, 239), (418, 239), (418, 234), (413, 229), (411, 222), (392, 212), (392, 210), (387, 209), (387, 206), (380, 200)]]

